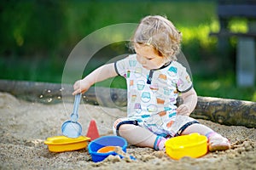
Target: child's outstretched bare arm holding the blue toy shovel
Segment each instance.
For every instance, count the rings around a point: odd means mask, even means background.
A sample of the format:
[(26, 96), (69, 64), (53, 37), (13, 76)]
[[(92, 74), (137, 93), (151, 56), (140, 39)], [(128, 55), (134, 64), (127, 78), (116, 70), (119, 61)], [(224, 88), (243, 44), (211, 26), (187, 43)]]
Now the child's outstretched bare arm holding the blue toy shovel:
[(102, 65), (92, 71), (87, 77), (73, 84), (73, 95), (86, 92), (96, 82), (102, 82), (110, 77), (118, 76), (114, 64)]

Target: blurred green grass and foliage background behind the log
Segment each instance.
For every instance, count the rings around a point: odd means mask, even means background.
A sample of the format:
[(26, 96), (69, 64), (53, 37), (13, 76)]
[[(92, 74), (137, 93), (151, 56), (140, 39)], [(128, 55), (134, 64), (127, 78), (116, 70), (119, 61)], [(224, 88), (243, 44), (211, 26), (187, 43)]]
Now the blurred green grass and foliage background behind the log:
[[(91, 32), (119, 23), (138, 23), (148, 14), (166, 15), (183, 33), (183, 54), (189, 61), (198, 95), (256, 101), (256, 90), (236, 86), (236, 38), (226, 55), (209, 37), (219, 29), (217, 1), (57, 1), (0, 2), (0, 79), (61, 82), (68, 55)], [(247, 31), (247, 20), (230, 23), (231, 31)], [(131, 53), (127, 42), (102, 48), (84, 76), (111, 57)], [(110, 82), (109, 82), (110, 81)], [(125, 88), (117, 77), (99, 86)]]

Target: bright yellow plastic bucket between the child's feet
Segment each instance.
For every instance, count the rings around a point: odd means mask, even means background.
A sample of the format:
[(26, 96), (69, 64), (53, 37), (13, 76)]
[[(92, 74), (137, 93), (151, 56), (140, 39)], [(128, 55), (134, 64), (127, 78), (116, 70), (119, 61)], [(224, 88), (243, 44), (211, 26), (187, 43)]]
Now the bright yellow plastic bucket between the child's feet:
[(191, 133), (166, 140), (166, 154), (175, 160), (183, 156), (193, 158), (204, 156), (207, 151), (207, 137), (199, 133)]

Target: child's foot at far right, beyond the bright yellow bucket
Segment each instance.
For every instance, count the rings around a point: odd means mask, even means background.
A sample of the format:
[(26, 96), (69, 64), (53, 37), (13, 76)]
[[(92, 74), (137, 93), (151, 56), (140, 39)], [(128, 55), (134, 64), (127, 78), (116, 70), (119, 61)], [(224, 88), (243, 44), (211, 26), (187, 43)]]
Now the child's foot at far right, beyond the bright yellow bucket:
[(212, 132), (207, 135), (208, 149), (210, 151), (229, 150), (230, 141), (218, 133)]

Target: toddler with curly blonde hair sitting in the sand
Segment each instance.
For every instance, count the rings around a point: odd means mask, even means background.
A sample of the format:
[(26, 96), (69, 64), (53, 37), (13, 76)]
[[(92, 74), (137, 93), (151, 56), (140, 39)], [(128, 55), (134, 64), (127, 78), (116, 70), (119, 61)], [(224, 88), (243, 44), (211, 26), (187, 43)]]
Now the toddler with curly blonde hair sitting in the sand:
[[(189, 117), (197, 94), (186, 68), (177, 62), (181, 41), (181, 33), (170, 20), (147, 16), (131, 37), (136, 54), (92, 71), (74, 83), (73, 94), (120, 75), (127, 83), (127, 116), (113, 123), (113, 133), (154, 150), (164, 150), (166, 139), (200, 133), (207, 136), (210, 151), (230, 149), (228, 139)], [(177, 107), (179, 94), (183, 104)]]

